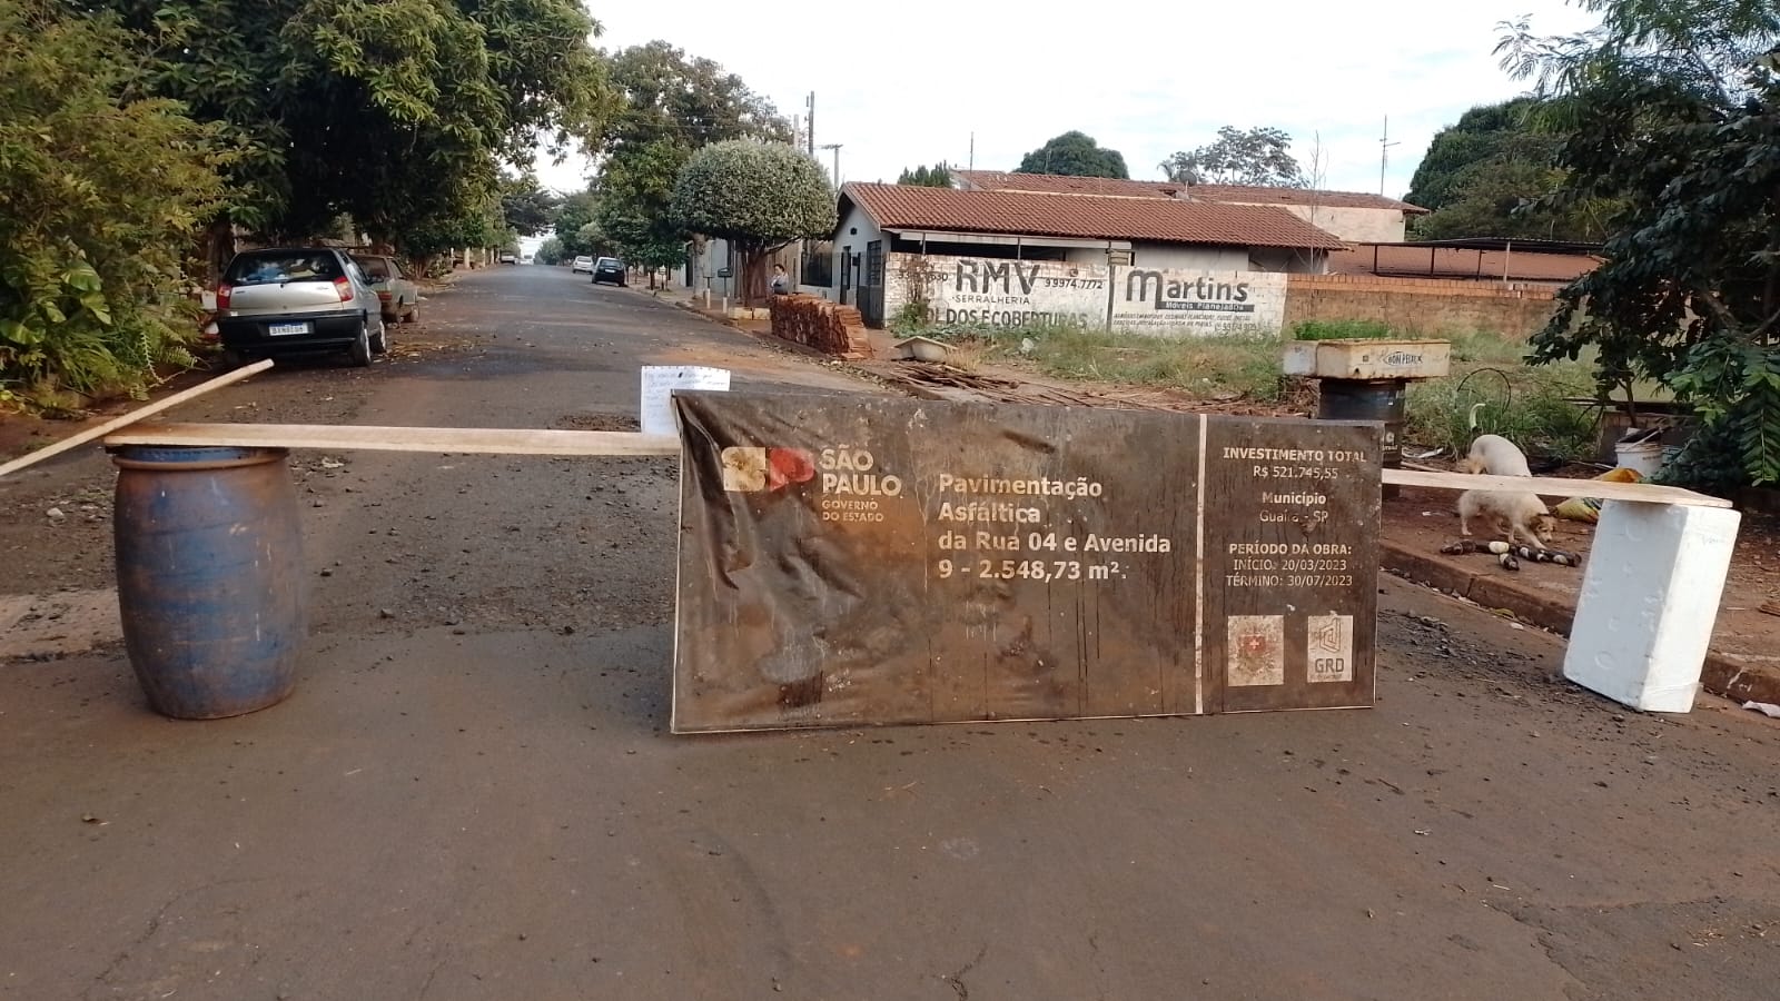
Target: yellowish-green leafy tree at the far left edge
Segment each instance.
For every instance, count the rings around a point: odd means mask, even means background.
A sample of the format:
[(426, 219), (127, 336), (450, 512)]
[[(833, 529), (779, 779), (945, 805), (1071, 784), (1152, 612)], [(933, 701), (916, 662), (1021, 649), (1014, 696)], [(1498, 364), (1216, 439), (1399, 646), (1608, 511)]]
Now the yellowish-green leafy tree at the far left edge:
[(183, 258), (228, 159), (139, 94), (141, 61), (112, 18), (0, 4), (0, 399), (77, 406), (192, 362)]

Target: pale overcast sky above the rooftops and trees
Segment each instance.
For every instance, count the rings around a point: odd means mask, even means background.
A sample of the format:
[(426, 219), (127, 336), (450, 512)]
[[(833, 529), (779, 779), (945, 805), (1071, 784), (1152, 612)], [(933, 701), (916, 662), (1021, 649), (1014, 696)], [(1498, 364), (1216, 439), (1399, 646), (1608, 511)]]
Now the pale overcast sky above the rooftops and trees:
[[(902, 167), (1013, 169), (1072, 128), (1161, 178), (1177, 150), (1221, 125), (1292, 135), (1321, 187), (1403, 196), (1429, 139), (1467, 109), (1525, 87), (1490, 50), (1497, 25), (1531, 14), (1543, 34), (1595, 18), (1565, 0), (1271, 0), (1093, 4), (678, 4), (595, 0), (602, 48), (668, 39), (739, 73), (787, 118), (815, 91), (815, 142), (840, 142), (842, 180), (894, 182)], [(833, 167), (831, 151), (817, 151)], [(578, 191), (580, 159), (539, 162), (546, 187)]]

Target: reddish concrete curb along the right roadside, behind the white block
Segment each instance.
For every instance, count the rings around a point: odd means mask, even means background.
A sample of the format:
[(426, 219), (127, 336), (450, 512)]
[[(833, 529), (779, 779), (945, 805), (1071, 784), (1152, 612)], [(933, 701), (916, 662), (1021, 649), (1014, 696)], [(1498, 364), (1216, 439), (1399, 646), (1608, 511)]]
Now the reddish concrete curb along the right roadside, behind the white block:
[[(1575, 607), (1565, 602), (1504, 581), (1495, 574), (1472, 574), (1470, 570), (1454, 566), (1451, 561), (1413, 552), (1399, 543), (1385, 541), (1380, 549), (1381, 570), (1474, 600), (1485, 607), (1506, 609), (1522, 622), (1550, 629), (1561, 636), (1570, 634)], [(1721, 695), (1736, 702), (1780, 704), (1780, 671), (1762, 664), (1750, 664), (1736, 654), (1707, 650), (1705, 664), (1700, 668), (1700, 686), (1712, 695)]]

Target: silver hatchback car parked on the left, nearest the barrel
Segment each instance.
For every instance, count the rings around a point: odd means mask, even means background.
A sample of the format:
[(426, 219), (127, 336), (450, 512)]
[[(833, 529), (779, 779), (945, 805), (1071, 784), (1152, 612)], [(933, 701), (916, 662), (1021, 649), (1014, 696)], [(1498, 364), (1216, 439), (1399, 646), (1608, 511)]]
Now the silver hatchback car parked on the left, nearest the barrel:
[(363, 367), (390, 349), (377, 290), (349, 253), (333, 248), (235, 255), (217, 287), (215, 322), (235, 362), (345, 351)]

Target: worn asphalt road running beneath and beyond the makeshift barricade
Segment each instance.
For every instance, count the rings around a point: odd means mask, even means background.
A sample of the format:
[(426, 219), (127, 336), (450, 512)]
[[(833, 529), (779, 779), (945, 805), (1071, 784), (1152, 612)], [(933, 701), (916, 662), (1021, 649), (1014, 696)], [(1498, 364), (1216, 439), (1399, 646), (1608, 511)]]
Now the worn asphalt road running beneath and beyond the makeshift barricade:
[[(424, 317), (178, 417), (632, 427), (641, 363), (870, 392), (561, 269)], [(1486, 611), (1381, 581), (1372, 711), (675, 737), (673, 460), (292, 465), (290, 700), (178, 723), (116, 643), (0, 664), (0, 996), (1780, 990), (1780, 727), (1622, 711)], [(107, 586), (107, 463), (44, 467), (0, 483), (0, 595)]]

